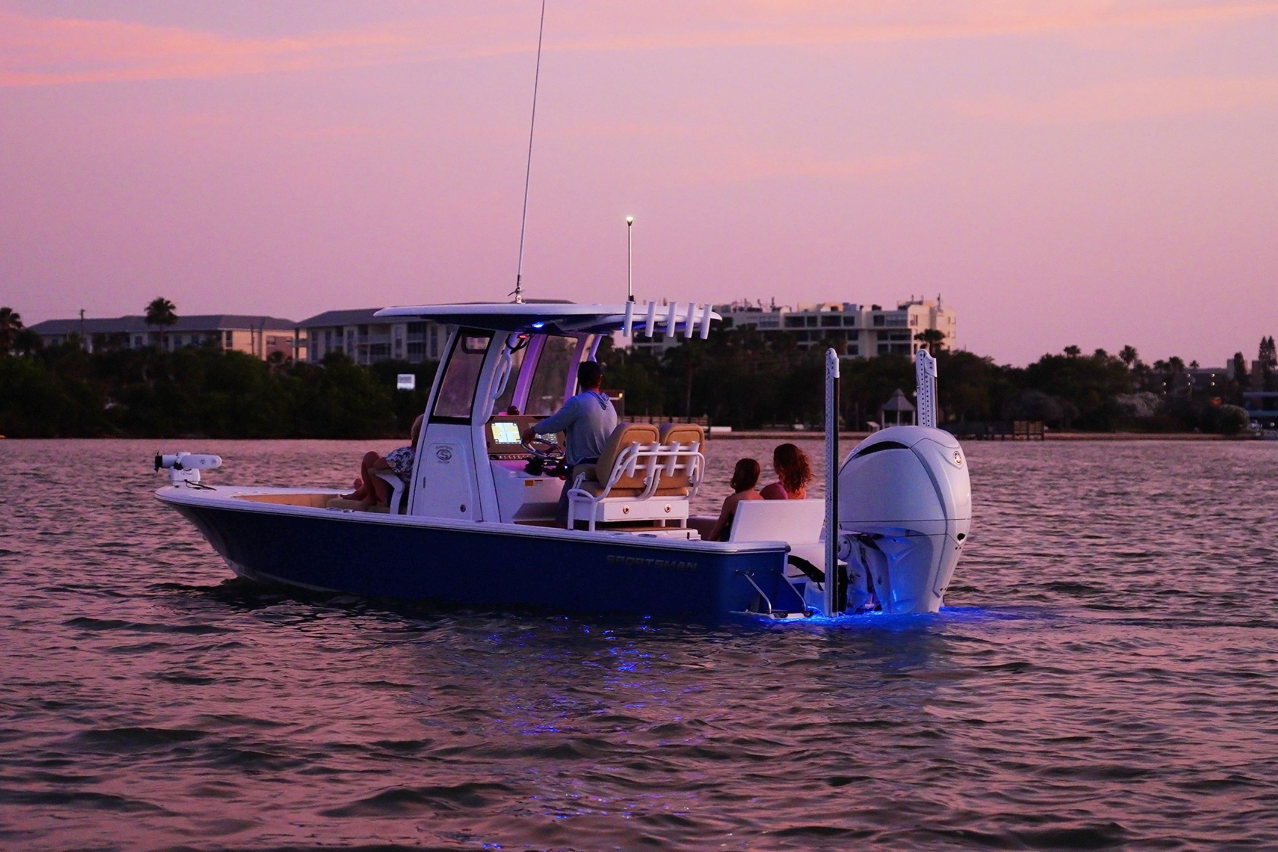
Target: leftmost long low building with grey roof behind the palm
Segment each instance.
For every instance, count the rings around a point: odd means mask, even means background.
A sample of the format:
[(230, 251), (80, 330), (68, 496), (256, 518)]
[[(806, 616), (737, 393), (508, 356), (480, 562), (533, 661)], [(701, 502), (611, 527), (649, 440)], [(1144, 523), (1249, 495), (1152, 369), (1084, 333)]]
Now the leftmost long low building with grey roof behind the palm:
[[(171, 326), (147, 324), (146, 317), (46, 319), (31, 326), (46, 346), (79, 341), (88, 351), (106, 349), (144, 349), (162, 346), (170, 351), (184, 346), (216, 346), (268, 358), (281, 353), (291, 359), (298, 353), (291, 319), (250, 314), (197, 314), (178, 317)], [(305, 353), (300, 354), (305, 358)]]

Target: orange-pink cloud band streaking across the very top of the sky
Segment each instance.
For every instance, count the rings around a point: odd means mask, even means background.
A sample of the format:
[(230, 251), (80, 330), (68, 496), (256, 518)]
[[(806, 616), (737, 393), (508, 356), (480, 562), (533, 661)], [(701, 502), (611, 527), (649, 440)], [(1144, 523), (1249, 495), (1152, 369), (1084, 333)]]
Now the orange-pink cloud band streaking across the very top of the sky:
[[(227, 77), (528, 51), (530, 20), (521, 11), (261, 38), (129, 20), (33, 18), (0, 9), (0, 86)], [(943, 5), (923, 0), (666, 0), (642, 8), (566, 4), (555, 15), (547, 36), (551, 51), (633, 51), (1192, 28), (1278, 17), (1278, 0), (955, 0)]]

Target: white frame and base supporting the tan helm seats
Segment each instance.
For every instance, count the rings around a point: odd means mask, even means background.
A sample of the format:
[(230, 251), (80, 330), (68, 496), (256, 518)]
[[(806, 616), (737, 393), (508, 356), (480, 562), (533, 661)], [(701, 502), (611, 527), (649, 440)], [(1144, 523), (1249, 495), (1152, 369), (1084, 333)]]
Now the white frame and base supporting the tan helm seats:
[[(643, 471), (643, 491), (634, 497), (611, 497), (622, 476)], [(663, 479), (688, 471), (688, 496), (658, 496)], [(639, 443), (633, 442), (617, 453), (603, 483), (603, 492), (596, 497), (581, 488), (585, 474), (578, 474), (567, 492), (567, 528), (576, 529), (578, 521), (587, 521), (590, 530), (598, 522), (608, 521), (679, 521), (688, 526), (688, 507), (702, 484), (705, 456), (700, 441), (691, 443)]]

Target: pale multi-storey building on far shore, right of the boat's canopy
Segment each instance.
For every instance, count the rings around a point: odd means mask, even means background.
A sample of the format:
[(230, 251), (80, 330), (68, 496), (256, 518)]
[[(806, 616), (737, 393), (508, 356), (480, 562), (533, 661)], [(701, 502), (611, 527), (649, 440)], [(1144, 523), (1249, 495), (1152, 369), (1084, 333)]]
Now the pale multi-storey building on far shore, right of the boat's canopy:
[[(714, 305), (723, 317), (722, 328), (754, 328), (766, 337), (787, 335), (797, 349), (841, 345), (845, 358), (877, 355), (914, 355), (921, 341), (916, 335), (927, 330), (941, 332), (941, 345), (957, 346), (955, 309), (944, 307), (941, 298), (914, 299), (897, 303), (895, 309), (882, 305), (860, 305), (850, 301), (820, 301), (796, 305), (764, 305), (762, 301), (734, 301)], [(665, 353), (682, 342), (658, 332), (653, 337), (635, 336), (629, 341), (639, 351)]]

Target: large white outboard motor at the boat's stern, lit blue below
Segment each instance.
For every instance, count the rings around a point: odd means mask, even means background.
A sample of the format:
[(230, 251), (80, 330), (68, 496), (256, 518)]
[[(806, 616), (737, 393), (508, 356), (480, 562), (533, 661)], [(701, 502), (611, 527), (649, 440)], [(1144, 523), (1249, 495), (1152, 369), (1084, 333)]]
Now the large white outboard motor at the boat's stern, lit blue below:
[(838, 471), (840, 557), (847, 611), (937, 612), (971, 526), (971, 482), (958, 441), (930, 427), (889, 427), (856, 445)]

